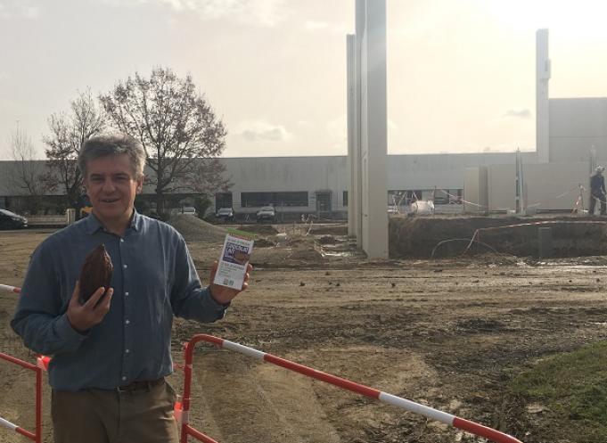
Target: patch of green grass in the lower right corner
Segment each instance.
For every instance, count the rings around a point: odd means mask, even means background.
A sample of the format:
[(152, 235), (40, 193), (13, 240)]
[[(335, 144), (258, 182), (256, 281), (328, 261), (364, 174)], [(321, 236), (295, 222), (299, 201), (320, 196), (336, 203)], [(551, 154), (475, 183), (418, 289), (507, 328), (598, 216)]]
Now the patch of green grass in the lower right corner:
[(607, 441), (607, 342), (540, 361), (513, 380), (513, 391), (548, 408), (544, 418), (553, 422), (541, 426), (544, 438), (550, 433), (580, 443)]

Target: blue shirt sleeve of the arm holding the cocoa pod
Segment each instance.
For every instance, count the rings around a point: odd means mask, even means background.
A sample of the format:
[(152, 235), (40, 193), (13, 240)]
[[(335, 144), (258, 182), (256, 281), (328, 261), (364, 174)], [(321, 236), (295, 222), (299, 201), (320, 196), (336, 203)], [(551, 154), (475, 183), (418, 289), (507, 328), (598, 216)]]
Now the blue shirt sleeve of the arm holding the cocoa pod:
[(37, 247), (29, 262), (17, 309), (11, 327), (35, 352), (53, 355), (76, 351), (86, 335), (70, 325), (66, 303), (59, 293), (60, 285), (53, 268), (48, 245)]

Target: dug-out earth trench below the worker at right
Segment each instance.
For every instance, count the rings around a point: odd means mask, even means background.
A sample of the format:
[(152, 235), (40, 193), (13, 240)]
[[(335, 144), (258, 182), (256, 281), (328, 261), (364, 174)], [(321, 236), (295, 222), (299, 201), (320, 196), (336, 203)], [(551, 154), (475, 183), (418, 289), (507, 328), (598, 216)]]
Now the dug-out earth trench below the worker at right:
[(551, 257), (607, 254), (607, 218), (432, 216), (390, 217), (390, 257), (446, 258), (488, 252), (538, 257), (541, 227), (550, 228)]

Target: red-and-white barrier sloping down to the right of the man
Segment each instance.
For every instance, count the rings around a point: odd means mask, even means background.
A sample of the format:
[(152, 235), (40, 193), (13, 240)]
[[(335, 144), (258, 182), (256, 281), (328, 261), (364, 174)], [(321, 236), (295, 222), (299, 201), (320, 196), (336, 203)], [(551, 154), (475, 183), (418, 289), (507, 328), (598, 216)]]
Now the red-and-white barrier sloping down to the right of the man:
[[(205, 439), (201, 439), (201, 441), (205, 443), (214, 443), (213, 439), (209, 439), (209, 437), (205, 436), (204, 434), (201, 434), (199, 431), (196, 431), (192, 427), (190, 427), (187, 420), (188, 413), (190, 411), (190, 393), (192, 388), (193, 350), (196, 346), (196, 343), (198, 343), (199, 341), (206, 341), (208, 343), (217, 345), (219, 348), (233, 350), (235, 352), (244, 354), (245, 356), (257, 358), (258, 360), (263, 360), (267, 363), (281, 366), (285, 369), (289, 369), (290, 371), (302, 373), (316, 380), (330, 383), (341, 389), (351, 390), (352, 392), (364, 395), (365, 397), (378, 399), (392, 406), (401, 407), (415, 414), (421, 414), (427, 418), (430, 418), (431, 420), (443, 422), (445, 424), (448, 424), (449, 426), (453, 426), (462, 431), (470, 432), (471, 434), (476, 435), (478, 437), (484, 437), (485, 439), (488, 439), (495, 443), (522, 443), (521, 440), (515, 439), (512, 436), (504, 434), (504, 432), (496, 431), (494, 429), (488, 428), (487, 426), (483, 426), (482, 424), (465, 420), (453, 414), (447, 414), (446, 412), (439, 411), (438, 409), (434, 409), (430, 406), (420, 405), (419, 403), (407, 400), (406, 398), (400, 398), (388, 394), (386, 392), (382, 392), (381, 390), (375, 390), (373, 388), (369, 388), (354, 381), (342, 379), (330, 373), (323, 373), (308, 366), (299, 365), (298, 363), (285, 360), (284, 358), (275, 357), (272, 354), (267, 354), (266, 352), (249, 348), (248, 346), (244, 346), (239, 343), (234, 343), (234, 341), (224, 340), (219, 337), (214, 337), (212, 335), (207, 334), (194, 335), (192, 340), (190, 340), (185, 345), (184, 398), (182, 404), (180, 405), (180, 414), (182, 418), (181, 443), (187, 443), (188, 435), (192, 435), (197, 438), (199, 436), (203, 436)], [(193, 433), (194, 431), (196, 432), (196, 434)]]

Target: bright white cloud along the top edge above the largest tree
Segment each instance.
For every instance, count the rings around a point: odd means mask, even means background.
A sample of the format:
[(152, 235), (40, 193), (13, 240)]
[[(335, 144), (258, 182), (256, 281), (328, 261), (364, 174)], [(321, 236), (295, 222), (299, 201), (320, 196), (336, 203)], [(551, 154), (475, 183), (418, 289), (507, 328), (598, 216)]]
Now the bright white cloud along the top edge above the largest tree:
[[(0, 0), (2, 1), (2, 0)], [(175, 12), (195, 12), (203, 20), (231, 19), (258, 26), (275, 26), (286, 12), (284, 0), (102, 0), (116, 6), (163, 4)]]

